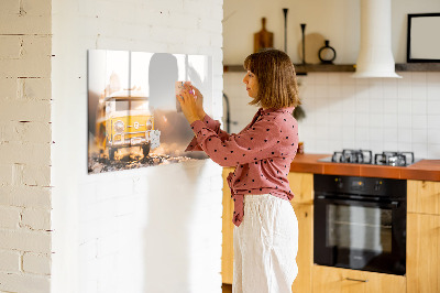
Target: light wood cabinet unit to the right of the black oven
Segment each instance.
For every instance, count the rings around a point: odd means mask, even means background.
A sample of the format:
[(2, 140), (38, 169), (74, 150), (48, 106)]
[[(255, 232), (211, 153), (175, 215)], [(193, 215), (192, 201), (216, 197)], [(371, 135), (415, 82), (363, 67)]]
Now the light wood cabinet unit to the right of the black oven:
[(407, 184), (407, 292), (440, 292), (440, 182)]

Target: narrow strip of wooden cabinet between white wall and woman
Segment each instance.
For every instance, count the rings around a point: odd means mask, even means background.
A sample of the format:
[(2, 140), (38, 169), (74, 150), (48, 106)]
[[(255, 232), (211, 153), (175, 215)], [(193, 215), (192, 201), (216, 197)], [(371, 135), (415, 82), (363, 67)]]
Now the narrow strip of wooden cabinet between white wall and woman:
[(232, 167), (223, 169), (223, 215), (222, 215), (222, 247), (221, 247), (221, 279), (224, 284), (232, 284), (233, 278), (233, 202), (231, 191), (227, 182)]

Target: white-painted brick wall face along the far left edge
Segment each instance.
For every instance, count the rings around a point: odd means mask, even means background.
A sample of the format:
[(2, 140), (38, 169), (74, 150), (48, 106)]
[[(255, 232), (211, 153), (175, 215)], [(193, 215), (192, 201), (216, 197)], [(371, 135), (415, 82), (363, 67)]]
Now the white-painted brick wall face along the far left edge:
[(0, 3), (1, 292), (50, 292), (51, 4)]

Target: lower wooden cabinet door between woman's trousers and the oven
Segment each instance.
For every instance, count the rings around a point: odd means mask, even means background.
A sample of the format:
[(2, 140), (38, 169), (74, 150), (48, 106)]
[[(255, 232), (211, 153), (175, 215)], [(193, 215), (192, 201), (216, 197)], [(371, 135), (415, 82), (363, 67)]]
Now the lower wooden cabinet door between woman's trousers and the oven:
[(292, 203), (298, 219), (298, 275), (292, 285), (293, 293), (311, 292), (314, 264), (314, 206)]

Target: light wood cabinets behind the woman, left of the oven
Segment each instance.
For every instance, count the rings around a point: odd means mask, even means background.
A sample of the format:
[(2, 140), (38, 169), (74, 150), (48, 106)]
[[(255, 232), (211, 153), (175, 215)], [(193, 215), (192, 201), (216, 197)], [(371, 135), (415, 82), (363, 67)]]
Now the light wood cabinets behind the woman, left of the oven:
[[(232, 284), (233, 279), (233, 202), (227, 183), (232, 167), (223, 169), (223, 240), (222, 240), (222, 282)], [(289, 173), (288, 181), (295, 194), (292, 206), (298, 219), (298, 275), (293, 284), (293, 292), (311, 292), (311, 268), (314, 253), (314, 174)]]

